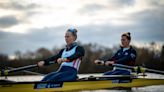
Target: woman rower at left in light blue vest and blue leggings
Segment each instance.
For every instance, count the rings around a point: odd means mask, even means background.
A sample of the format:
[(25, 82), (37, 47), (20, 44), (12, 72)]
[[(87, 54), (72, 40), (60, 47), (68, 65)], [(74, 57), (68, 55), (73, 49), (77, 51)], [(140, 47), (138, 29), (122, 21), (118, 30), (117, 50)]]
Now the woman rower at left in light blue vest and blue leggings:
[(68, 29), (65, 33), (66, 47), (60, 52), (44, 61), (38, 62), (38, 66), (49, 65), (50, 61), (54, 61), (60, 65), (60, 68), (47, 74), (42, 81), (75, 81), (80, 62), (85, 54), (83, 47), (79, 46), (75, 41), (77, 39), (77, 30)]

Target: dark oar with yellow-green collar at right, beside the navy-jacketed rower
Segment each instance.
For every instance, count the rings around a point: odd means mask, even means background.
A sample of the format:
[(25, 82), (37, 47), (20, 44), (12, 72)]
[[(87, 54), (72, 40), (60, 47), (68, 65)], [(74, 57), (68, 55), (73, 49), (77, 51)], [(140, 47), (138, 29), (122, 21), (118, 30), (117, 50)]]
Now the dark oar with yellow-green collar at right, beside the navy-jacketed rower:
[(151, 72), (151, 73), (157, 73), (157, 74), (164, 74), (164, 71), (148, 69), (148, 68), (141, 67), (141, 66), (127, 66), (127, 65), (122, 65), (122, 64), (113, 64), (112, 66), (132, 69), (137, 73)]

